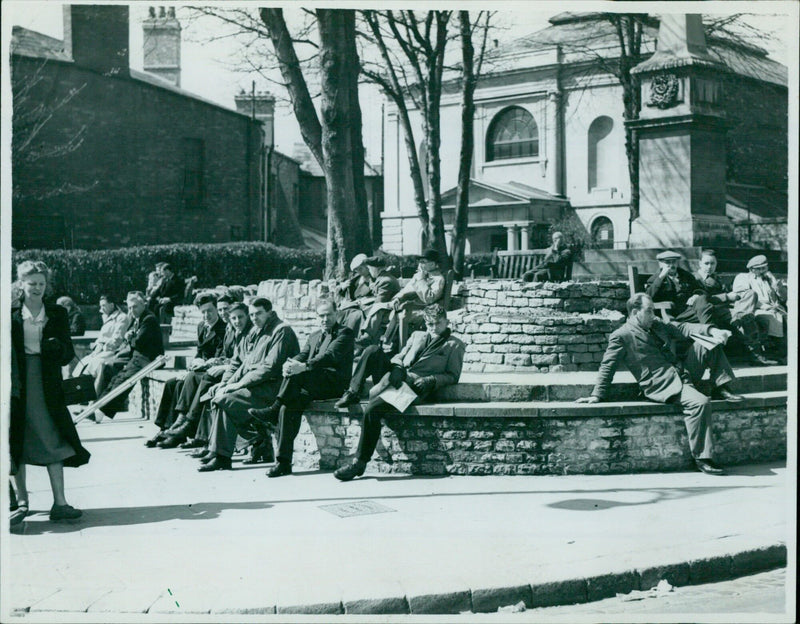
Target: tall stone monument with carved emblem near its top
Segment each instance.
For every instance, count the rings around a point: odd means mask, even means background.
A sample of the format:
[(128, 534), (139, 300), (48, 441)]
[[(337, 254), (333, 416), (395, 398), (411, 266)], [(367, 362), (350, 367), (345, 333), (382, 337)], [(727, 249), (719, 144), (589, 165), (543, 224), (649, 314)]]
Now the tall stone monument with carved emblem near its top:
[(725, 116), (720, 72), (700, 15), (663, 15), (658, 47), (631, 72), (642, 110), (639, 217), (630, 247), (735, 246), (725, 215)]

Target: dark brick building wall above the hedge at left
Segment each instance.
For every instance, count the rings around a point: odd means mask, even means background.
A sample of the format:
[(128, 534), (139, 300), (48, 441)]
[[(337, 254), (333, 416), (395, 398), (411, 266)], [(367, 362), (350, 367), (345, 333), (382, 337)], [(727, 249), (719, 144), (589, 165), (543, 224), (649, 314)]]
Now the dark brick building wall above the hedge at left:
[[(30, 103), (53, 111), (37, 142), (48, 149), (80, 137), (68, 154), (14, 159), (15, 248), (261, 237), (260, 124), (126, 72), (23, 56), (12, 66), (15, 84), (35, 81), (15, 113)], [(79, 91), (57, 108), (72, 90)], [(62, 224), (64, 240), (59, 227), (43, 240), (41, 226), (53, 223)]]

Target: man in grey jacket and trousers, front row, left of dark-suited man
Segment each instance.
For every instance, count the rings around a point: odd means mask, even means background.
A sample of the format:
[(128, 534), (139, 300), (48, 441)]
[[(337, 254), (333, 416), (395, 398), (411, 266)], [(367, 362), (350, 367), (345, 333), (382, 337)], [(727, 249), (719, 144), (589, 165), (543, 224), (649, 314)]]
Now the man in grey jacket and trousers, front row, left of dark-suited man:
[[(278, 318), (268, 299), (252, 299), (248, 310), (253, 322), (248, 337), (251, 346), (246, 352), (239, 352), (244, 353), (241, 361), (234, 356), (228, 370), (234, 367), (236, 370), (229, 377), (223, 377), (211, 399), (212, 409), (217, 413), (212, 419), (208, 453), (201, 459), (200, 472), (230, 470), (237, 435), (251, 442), (260, 438), (263, 431), (248, 411), (275, 399), (281, 387), (284, 363), (300, 351), (294, 330)], [(257, 441), (259, 445), (272, 444), (269, 438)], [(259, 461), (262, 454), (254, 450), (253, 463)]]

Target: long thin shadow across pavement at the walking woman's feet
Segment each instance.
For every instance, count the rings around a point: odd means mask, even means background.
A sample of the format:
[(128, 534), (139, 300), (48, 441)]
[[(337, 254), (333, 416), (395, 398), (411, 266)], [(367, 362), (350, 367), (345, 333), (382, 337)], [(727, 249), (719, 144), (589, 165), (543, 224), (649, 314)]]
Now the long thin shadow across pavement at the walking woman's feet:
[(93, 527), (125, 526), (130, 524), (148, 524), (166, 522), (168, 520), (213, 520), (220, 512), (231, 509), (258, 510), (269, 509), (270, 503), (264, 501), (250, 503), (194, 503), (188, 505), (156, 505), (153, 507), (107, 507), (100, 509), (84, 509), (83, 516), (74, 523), (58, 523), (47, 520), (47, 513), (42, 512), (42, 520), (25, 522), (25, 535), (44, 533), (72, 533)]

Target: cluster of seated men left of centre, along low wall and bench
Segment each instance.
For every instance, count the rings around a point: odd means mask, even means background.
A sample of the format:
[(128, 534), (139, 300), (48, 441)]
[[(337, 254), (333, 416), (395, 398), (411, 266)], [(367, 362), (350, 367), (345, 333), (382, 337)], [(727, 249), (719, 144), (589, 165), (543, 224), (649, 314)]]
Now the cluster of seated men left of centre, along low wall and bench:
[[(275, 432), (277, 463), (267, 474), (280, 477), (292, 472), (294, 441), (312, 401), (338, 399), (337, 407), (357, 403), (368, 376), (375, 387), (405, 383), (415, 401), (457, 383), (465, 347), (448, 328), (436, 253), (420, 258), (403, 288), (378, 258), (357, 256), (351, 271), (348, 280), (331, 288), (337, 300), (317, 305), (319, 327), (302, 349), (268, 299), (244, 304), (200, 295), (196, 356), (185, 377), (166, 383), (155, 419), (159, 432), (147, 446), (199, 447), (192, 454), (200, 459), (198, 470), (211, 472), (231, 468), (237, 441), (250, 447), (244, 463), (274, 461)], [(412, 317), (412, 327), (419, 320), (424, 329), (399, 349), (401, 311)], [(358, 457), (336, 471), (338, 479), (363, 474), (381, 418), (392, 413), (397, 412), (380, 393), (370, 397)]]

